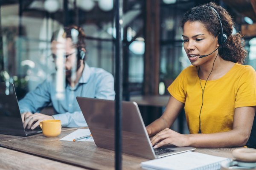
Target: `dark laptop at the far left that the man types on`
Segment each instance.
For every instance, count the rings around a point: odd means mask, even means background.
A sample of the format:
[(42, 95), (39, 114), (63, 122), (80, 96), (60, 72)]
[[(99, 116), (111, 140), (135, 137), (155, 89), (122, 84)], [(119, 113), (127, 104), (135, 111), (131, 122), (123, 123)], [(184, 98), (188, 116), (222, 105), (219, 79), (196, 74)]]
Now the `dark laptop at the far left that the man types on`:
[(0, 82), (0, 133), (29, 136), (41, 132), (39, 126), (34, 130), (23, 127), (14, 85), (9, 82)]

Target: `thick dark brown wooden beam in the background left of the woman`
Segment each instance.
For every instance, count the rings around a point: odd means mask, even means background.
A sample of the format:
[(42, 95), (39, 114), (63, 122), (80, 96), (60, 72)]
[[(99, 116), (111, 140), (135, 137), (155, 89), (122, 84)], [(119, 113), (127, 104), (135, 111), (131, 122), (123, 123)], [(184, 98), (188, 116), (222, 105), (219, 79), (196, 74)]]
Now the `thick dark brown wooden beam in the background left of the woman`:
[(160, 1), (146, 0), (144, 94), (158, 95), (160, 67)]

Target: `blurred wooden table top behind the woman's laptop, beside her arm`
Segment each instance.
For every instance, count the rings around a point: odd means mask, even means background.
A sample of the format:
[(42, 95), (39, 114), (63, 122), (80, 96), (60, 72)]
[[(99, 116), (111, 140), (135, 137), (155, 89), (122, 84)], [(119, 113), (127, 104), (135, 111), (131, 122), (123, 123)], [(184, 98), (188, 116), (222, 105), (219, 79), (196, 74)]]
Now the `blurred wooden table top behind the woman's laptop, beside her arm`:
[(156, 107), (165, 107), (169, 101), (170, 95), (140, 95), (140, 96), (131, 96), (130, 101), (136, 102), (138, 105), (142, 106), (156, 106)]

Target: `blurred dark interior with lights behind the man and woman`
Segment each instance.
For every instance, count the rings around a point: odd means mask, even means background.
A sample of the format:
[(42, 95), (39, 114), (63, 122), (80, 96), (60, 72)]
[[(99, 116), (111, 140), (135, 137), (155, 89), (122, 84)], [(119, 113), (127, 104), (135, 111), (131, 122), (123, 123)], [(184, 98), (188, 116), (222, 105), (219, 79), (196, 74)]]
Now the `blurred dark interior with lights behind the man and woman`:
[[(168, 94), (168, 85), (190, 65), (183, 50), (180, 18), (189, 8), (208, 2), (123, 0), (124, 100)], [(245, 64), (256, 69), (256, 0), (214, 2), (232, 15), (233, 33), (244, 34)], [(14, 82), (18, 99), (35, 89), (55, 71), (50, 56), (52, 32), (72, 24), (81, 26), (87, 35), (88, 65), (114, 75), (113, 16), (113, 0), (0, 0), (0, 80)], [(162, 111), (160, 105), (154, 112)]]

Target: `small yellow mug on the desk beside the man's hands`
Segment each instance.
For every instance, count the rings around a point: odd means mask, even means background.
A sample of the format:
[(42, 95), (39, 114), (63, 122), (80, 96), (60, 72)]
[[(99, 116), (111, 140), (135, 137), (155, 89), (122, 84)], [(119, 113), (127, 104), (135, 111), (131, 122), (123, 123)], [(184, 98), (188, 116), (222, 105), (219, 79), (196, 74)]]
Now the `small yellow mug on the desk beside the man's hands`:
[(43, 131), (43, 135), (46, 137), (56, 137), (61, 134), (60, 120), (43, 120), (39, 125)]

